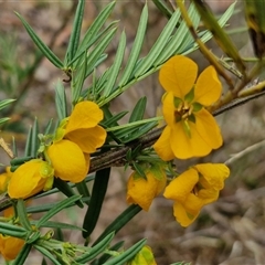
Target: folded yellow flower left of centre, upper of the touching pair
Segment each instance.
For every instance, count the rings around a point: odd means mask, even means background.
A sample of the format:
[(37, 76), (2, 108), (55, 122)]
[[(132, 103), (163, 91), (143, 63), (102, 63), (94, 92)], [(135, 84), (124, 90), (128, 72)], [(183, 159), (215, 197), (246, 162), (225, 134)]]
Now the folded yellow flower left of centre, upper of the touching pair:
[(97, 104), (81, 102), (75, 105), (47, 148), (47, 157), (56, 177), (74, 183), (86, 177), (89, 153), (103, 146), (106, 139), (106, 130), (97, 125), (102, 119), (103, 112)]

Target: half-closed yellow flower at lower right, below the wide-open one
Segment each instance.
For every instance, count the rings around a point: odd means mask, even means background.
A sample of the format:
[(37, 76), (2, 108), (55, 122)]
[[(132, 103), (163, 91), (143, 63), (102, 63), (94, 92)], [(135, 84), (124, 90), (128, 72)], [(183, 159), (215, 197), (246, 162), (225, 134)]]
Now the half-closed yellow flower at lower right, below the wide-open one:
[(163, 195), (173, 200), (173, 214), (183, 226), (189, 226), (203, 205), (216, 201), (230, 170), (223, 163), (197, 165), (172, 180)]

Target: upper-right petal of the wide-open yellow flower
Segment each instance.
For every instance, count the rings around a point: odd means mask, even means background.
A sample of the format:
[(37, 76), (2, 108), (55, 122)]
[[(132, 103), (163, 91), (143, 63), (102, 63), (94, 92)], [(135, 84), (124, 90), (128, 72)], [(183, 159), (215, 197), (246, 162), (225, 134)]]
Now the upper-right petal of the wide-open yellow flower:
[(222, 85), (216, 71), (213, 66), (206, 67), (197, 81), (193, 102), (198, 102), (203, 106), (210, 106), (220, 98), (221, 93)]

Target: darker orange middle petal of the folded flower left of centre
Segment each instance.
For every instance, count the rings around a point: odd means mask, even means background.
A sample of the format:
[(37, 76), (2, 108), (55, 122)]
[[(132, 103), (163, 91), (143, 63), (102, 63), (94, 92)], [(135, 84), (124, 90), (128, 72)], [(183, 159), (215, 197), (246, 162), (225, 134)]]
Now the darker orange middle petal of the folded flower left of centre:
[(107, 132), (100, 126), (88, 129), (76, 129), (65, 135), (66, 139), (78, 145), (83, 152), (92, 153), (102, 147), (107, 137)]

